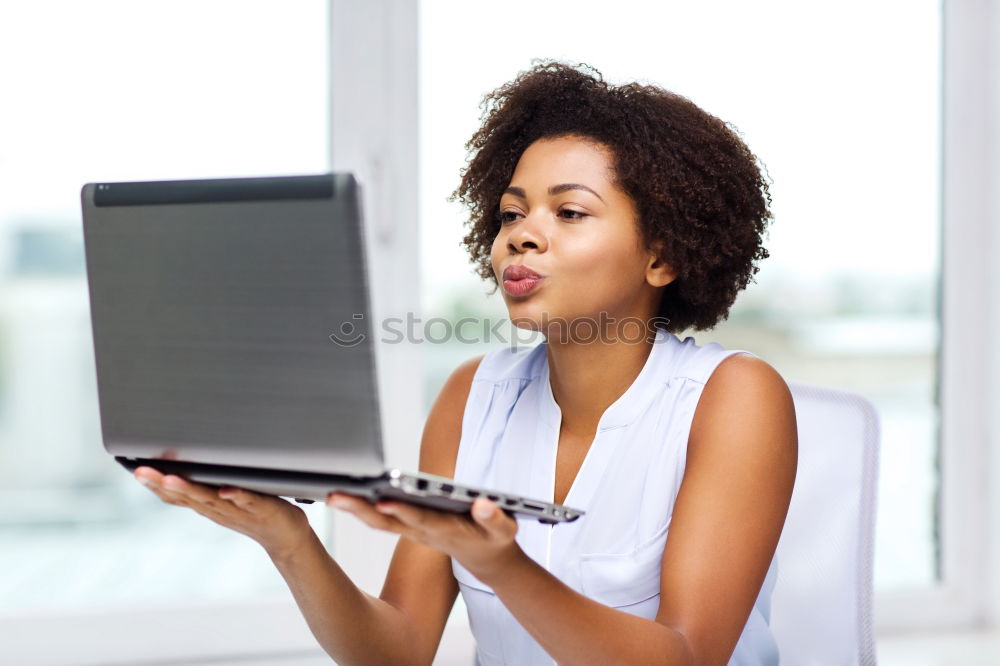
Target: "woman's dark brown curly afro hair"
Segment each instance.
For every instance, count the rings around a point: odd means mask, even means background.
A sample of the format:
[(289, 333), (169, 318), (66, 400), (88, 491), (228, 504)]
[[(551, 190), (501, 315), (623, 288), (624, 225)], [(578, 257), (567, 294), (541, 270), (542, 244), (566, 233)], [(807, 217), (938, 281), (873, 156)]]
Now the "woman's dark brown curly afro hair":
[(769, 256), (761, 237), (772, 217), (757, 158), (735, 127), (662, 88), (609, 85), (584, 63), (532, 65), (483, 97), (482, 126), (465, 144), (468, 165), (448, 199), (471, 213), (461, 245), (491, 293), (500, 197), (521, 154), (538, 139), (579, 136), (611, 150), (614, 184), (635, 202), (645, 247), (661, 242), (677, 273), (655, 325), (678, 333), (726, 319)]

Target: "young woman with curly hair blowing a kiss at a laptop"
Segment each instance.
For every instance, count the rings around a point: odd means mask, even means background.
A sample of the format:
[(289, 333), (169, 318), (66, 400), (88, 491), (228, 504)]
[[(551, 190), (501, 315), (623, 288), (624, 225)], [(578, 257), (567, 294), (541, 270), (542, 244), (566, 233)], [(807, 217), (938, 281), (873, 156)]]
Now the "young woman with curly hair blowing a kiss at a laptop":
[(781, 376), (713, 327), (768, 256), (770, 196), (725, 123), (654, 86), (542, 62), (484, 100), (454, 197), (530, 349), (460, 365), (420, 469), (551, 498), (544, 525), (331, 494), (399, 534), (378, 598), (281, 498), (136, 477), (267, 550), (340, 664), (430, 664), (462, 593), (481, 664), (777, 664), (774, 553), (797, 465)]

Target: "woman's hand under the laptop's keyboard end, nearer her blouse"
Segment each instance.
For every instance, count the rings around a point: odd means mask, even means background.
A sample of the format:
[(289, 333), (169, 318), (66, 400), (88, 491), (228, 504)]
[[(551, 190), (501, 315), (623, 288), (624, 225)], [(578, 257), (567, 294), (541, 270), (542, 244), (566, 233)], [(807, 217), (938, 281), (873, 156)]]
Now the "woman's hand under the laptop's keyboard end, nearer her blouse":
[(485, 497), (476, 498), (471, 518), (466, 513), (427, 509), (401, 501), (382, 500), (372, 504), (362, 497), (340, 492), (327, 495), (326, 503), (353, 513), (371, 527), (451, 555), (483, 582), (523, 555), (514, 540), (517, 521)]

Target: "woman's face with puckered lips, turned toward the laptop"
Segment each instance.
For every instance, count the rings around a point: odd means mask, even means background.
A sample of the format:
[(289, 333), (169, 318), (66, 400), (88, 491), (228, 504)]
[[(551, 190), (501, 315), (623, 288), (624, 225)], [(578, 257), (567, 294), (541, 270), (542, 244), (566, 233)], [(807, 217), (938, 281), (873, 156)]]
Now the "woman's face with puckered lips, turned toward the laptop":
[[(491, 252), (519, 328), (548, 335), (578, 330), (582, 337), (614, 330), (614, 322), (628, 317), (647, 322), (656, 315), (662, 287), (674, 275), (643, 247), (635, 205), (612, 177), (610, 151), (579, 137), (540, 139), (521, 155), (500, 198)], [(505, 281), (512, 266), (542, 277)], [(583, 326), (581, 318), (593, 324)]]

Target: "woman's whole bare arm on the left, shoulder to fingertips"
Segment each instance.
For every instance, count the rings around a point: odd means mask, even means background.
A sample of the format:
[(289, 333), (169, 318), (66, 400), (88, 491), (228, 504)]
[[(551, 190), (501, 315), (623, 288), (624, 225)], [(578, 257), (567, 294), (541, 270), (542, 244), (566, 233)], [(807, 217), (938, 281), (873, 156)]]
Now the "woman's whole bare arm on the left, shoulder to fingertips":
[[(428, 415), (421, 471), (452, 477), (462, 416), (482, 357), (449, 377)], [(136, 477), (164, 501), (186, 506), (258, 541), (288, 584), (323, 649), (343, 666), (430, 664), (458, 594), (447, 555), (400, 539), (379, 598), (358, 588), (334, 561), (302, 510), (246, 490), (216, 491), (140, 468)]]

